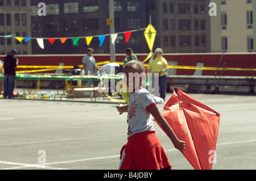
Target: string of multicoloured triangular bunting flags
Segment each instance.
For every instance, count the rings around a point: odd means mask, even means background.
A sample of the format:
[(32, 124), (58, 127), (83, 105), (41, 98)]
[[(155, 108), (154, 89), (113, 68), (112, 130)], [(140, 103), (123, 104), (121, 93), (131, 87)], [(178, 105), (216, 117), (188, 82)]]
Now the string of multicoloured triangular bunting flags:
[(118, 33), (111, 33), (111, 34), (109, 33), (109, 34), (105, 34), (105, 35), (79, 36), (79, 37), (31, 37), (30, 35), (28, 35), (28, 37), (18, 37), (16, 35), (4, 35), (4, 36), (0, 36), (0, 37), (7, 37), (7, 38), (13, 38), (14, 37), (19, 42), (21, 42), (23, 40), (25, 42), (27, 42), (27, 41), (29, 41), (31, 39), (36, 39), (39, 47), (42, 48), (42, 49), (44, 49), (44, 40), (48, 40), (50, 44), (53, 44), (55, 42), (55, 40), (60, 40), (61, 43), (64, 44), (67, 39), (72, 39), (73, 40), (73, 45), (79, 46), (79, 40), (85, 38), (86, 44), (89, 46), (89, 44), (92, 41), (92, 39), (94, 37), (98, 37), (98, 40), (100, 41), (99, 46), (101, 47), (106, 36), (110, 36), (111, 37), (111, 42), (114, 45), (115, 44), (115, 40), (117, 39), (117, 35), (123, 33), (123, 35), (125, 35), (125, 43), (128, 43), (128, 41), (130, 39), (130, 36), (131, 36), (131, 32), (142, 31), (142, 30), (146, 30), (146, 28), (140, 28), (140, 29), (137, 29), (137, 30), (118, 32)]

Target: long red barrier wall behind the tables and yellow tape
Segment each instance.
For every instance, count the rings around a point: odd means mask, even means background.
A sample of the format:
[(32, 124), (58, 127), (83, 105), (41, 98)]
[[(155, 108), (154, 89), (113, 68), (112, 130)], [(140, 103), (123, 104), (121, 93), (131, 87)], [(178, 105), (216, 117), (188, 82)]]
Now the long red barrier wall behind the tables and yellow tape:
[[(143, 61), (148, 54), (137, 54), (140, 61)], [(93, 54), (96, 62), (109, 61), (109, 54)], [(217, 68), (220, 62), (221, 53), (164, 53), (164, 58), (167, 61), (176, 61), (177, 65), (196, 66), (198, 62), (203, 62), (204, 66)], [(59, 65), (64, 63), (66, 66), (81, 65), (84, 54), (49, 54), (49, 55), (18, 55), (19, 65)], [(5, 56), (0, 56), (0, 60), (4, 60)], [(122, 62), (125, 54), (116, 54), (115, 59)], [(145, 62), (148, 64), (148, 61)], [(255, 53), (224, 53), (218, 75), (220, 75), (222, 67), (225, 68), (242, 68), (256, 69), (256, 54)], [(24, 69), (17, 69), (24, 70)], [(54, 73), (55, 71), (51, 71)], [(176, 75), (193, 75), (195, 70), (177, 69)], [(216, 70), (203, 70), (203, 75), (215, 75)], [(256, 71), (245, 70), (225, 70), (222, 75), (226, 76), (256, 76)]]

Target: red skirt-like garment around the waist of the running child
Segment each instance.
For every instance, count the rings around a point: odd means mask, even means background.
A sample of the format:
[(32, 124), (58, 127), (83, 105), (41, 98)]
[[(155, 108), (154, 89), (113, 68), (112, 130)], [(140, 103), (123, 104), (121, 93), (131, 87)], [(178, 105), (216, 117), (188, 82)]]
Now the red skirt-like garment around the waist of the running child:
[(171, 163), (153, 131), (135, 133), (120, 151), (120, 170), (160, 170)]

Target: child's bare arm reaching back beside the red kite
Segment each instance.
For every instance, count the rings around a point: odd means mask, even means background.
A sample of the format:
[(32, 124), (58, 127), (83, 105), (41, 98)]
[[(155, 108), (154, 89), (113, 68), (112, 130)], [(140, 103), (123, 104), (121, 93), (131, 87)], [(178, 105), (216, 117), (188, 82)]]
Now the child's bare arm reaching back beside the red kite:
[(181, 153), (184, 153), (183, 150), (185, 150), (185, 142), (180, 141), (174, 131), (172, 131), (172, 128), (167, 123), (166, 119), (162, 116), (160, 111), (158, 110), (158, 107), (156, 105), (150, 107), (148, 111), (151, 113), (151, 115), (155, 118), (155, 120), (159, 123), (160, 127), (163, 129), (163, 131), (167, 134), (167, 136), (171, 139), (172, 144), (174, 144), (175, 148), (180, 150)]

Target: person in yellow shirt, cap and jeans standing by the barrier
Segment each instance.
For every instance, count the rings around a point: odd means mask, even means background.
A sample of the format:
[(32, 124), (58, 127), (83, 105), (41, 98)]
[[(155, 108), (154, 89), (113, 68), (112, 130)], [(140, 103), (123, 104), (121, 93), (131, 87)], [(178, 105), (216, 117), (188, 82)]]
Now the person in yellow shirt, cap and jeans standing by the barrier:
[[(153, 61), (153, 72), (152, 72), (152, 61)], [(159, 73), (159, 93), (160, 98), (163, 100), (166, 98), (166, 82), (167, 82), (167, 70), (168, 63), (166, 58), (163, 57), (163, 49), (156, 48), (153, 58), (151, 58), (150, 62), (147, 66), (147, 72)]]

